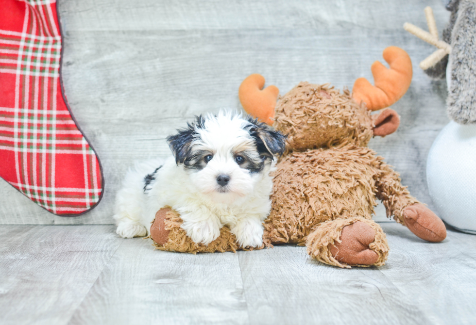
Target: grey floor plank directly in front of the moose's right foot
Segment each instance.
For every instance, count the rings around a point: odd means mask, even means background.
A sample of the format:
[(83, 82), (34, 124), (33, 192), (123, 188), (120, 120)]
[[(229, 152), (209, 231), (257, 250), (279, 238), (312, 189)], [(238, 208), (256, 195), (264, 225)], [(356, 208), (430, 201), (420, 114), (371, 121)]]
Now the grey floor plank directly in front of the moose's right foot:
[(376, 268), (337, 269), (305, 247), (239, 252), (250, 324), (431, 324)]

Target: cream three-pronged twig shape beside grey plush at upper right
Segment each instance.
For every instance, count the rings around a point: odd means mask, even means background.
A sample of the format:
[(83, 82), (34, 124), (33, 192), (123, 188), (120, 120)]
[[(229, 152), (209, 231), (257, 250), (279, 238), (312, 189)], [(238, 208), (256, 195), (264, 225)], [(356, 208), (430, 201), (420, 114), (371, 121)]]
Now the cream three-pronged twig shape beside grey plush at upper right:
[(425, 8), (425, 16), (429, 33), (410, 23), (405, 23), (403, 25), (403, 28), (407, 32), (412, 33), (418, 38), (424, 40), (426, 43), (434, 45), (438, 48), (425, 60), (420, 62), (420, 67), (423, 70), (436, 65), (446, 54), (451, 53), (451, 46), (448, 43), (438, 39), (438, 29), (436, 28), (435, 17), (433, 16), (433, 10), (430, 7)]

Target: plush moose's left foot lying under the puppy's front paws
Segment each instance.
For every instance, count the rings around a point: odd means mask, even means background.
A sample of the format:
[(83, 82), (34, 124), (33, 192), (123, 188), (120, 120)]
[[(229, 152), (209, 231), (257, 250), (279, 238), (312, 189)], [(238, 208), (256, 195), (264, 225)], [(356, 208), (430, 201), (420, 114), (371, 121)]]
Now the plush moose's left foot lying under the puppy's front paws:
[(220, 236), (208, 245), (194, 243), (187, 232), (180, 227), (183, 220), (180, 214), (164, 207), (155, 213), (155, 219), (151, 225), (151, 239), (156, 249), (182, 253), (213, 253), (213, 252), (236, 252), (238, 249), (237, 239), (226, 226), (220, 230)]

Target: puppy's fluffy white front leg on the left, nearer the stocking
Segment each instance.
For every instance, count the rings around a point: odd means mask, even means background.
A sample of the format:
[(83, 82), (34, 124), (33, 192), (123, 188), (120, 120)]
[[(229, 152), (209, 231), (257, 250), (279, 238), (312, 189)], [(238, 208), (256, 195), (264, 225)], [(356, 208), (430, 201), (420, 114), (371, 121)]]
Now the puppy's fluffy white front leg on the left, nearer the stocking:
[(194, 243), (207, 245), (220, 236), (220, 229), (223, 225), (218, 216), (208, 209), (200, 207), (192, 212), (180, 210), (177, 209), (184, 221), (181, 227)]

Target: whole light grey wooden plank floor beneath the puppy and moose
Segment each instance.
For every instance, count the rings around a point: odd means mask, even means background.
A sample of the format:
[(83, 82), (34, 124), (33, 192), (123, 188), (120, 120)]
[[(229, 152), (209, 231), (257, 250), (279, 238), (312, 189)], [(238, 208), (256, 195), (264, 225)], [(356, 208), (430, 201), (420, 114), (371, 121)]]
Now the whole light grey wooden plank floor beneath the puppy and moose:
[(381, 226), (387, 264), (351, 270), (293, 245), (191, 255), (113, 226), (2, 226), (0, 324), (475, 324), (476, 236)]

